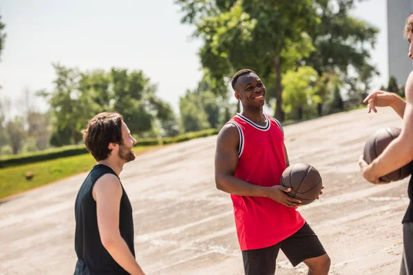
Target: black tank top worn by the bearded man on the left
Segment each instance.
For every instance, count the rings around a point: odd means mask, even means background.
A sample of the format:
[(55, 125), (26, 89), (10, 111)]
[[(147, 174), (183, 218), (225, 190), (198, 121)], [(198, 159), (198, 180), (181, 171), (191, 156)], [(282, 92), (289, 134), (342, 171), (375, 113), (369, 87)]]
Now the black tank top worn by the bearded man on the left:
[[(78, 256), (74, 275), (94, 274), (128, 274), (103, 247), (100, 241), (98, 220), (96, 217), (96, 201), (92, 190), (95, 182), (105, 174), (114, 174), (114, 170), (103, 164), (97, 164), (78, 191), (74, 205), (76, 232), (74, 249)], [(117, 175), (116, 175), (117, 176)], [(120, 184), (122, 186), (122, 184)], [(120, 235), (125, 239), (129, 250), (135, 256), (134, 250), (134, 221), (132, 207), (122, 186), (119, 211)]]

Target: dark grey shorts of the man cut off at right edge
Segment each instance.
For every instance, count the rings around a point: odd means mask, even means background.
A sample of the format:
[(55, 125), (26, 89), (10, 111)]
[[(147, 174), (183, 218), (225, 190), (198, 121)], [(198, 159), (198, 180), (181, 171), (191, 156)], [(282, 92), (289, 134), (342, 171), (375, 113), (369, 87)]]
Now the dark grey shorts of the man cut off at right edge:
[(413, 275), (413, 223), (403, 223), (403, 259), (400, 275)]

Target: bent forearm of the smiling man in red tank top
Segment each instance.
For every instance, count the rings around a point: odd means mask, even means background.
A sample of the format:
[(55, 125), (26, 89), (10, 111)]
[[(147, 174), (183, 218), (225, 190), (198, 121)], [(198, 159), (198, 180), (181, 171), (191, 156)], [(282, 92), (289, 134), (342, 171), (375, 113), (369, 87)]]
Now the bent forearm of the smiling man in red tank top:
[(250, 184), (232, 175), (225, 175), (215, 179), (217, 188), (232, 195), (246, 197), (268, 197), (267, 187)]

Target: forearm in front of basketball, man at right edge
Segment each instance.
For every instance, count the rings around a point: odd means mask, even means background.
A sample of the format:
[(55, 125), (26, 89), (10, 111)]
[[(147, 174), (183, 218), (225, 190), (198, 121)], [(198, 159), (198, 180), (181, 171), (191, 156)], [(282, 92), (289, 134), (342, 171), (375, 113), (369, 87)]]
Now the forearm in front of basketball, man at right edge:
[(412, 161), (410, 148), (401, 137), (394, 139), (387, 148), (372, 162), (372, 173), (376, 178), (383, 177)]

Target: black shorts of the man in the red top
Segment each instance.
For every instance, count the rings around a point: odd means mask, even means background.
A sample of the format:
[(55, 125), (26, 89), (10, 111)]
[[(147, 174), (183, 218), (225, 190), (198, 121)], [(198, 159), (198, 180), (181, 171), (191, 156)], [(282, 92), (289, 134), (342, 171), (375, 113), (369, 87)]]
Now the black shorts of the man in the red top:
[(280, 248), (294, 267), (305, 259), (326, 254), (326, 250), (324, 250), (315, 232), (308, 223), (304, 223), (302, 228), (284, 241), (268, 248), (243, 251), (242, 259), (244, 259), (245, 274), (275, 274), (275, 260)]

